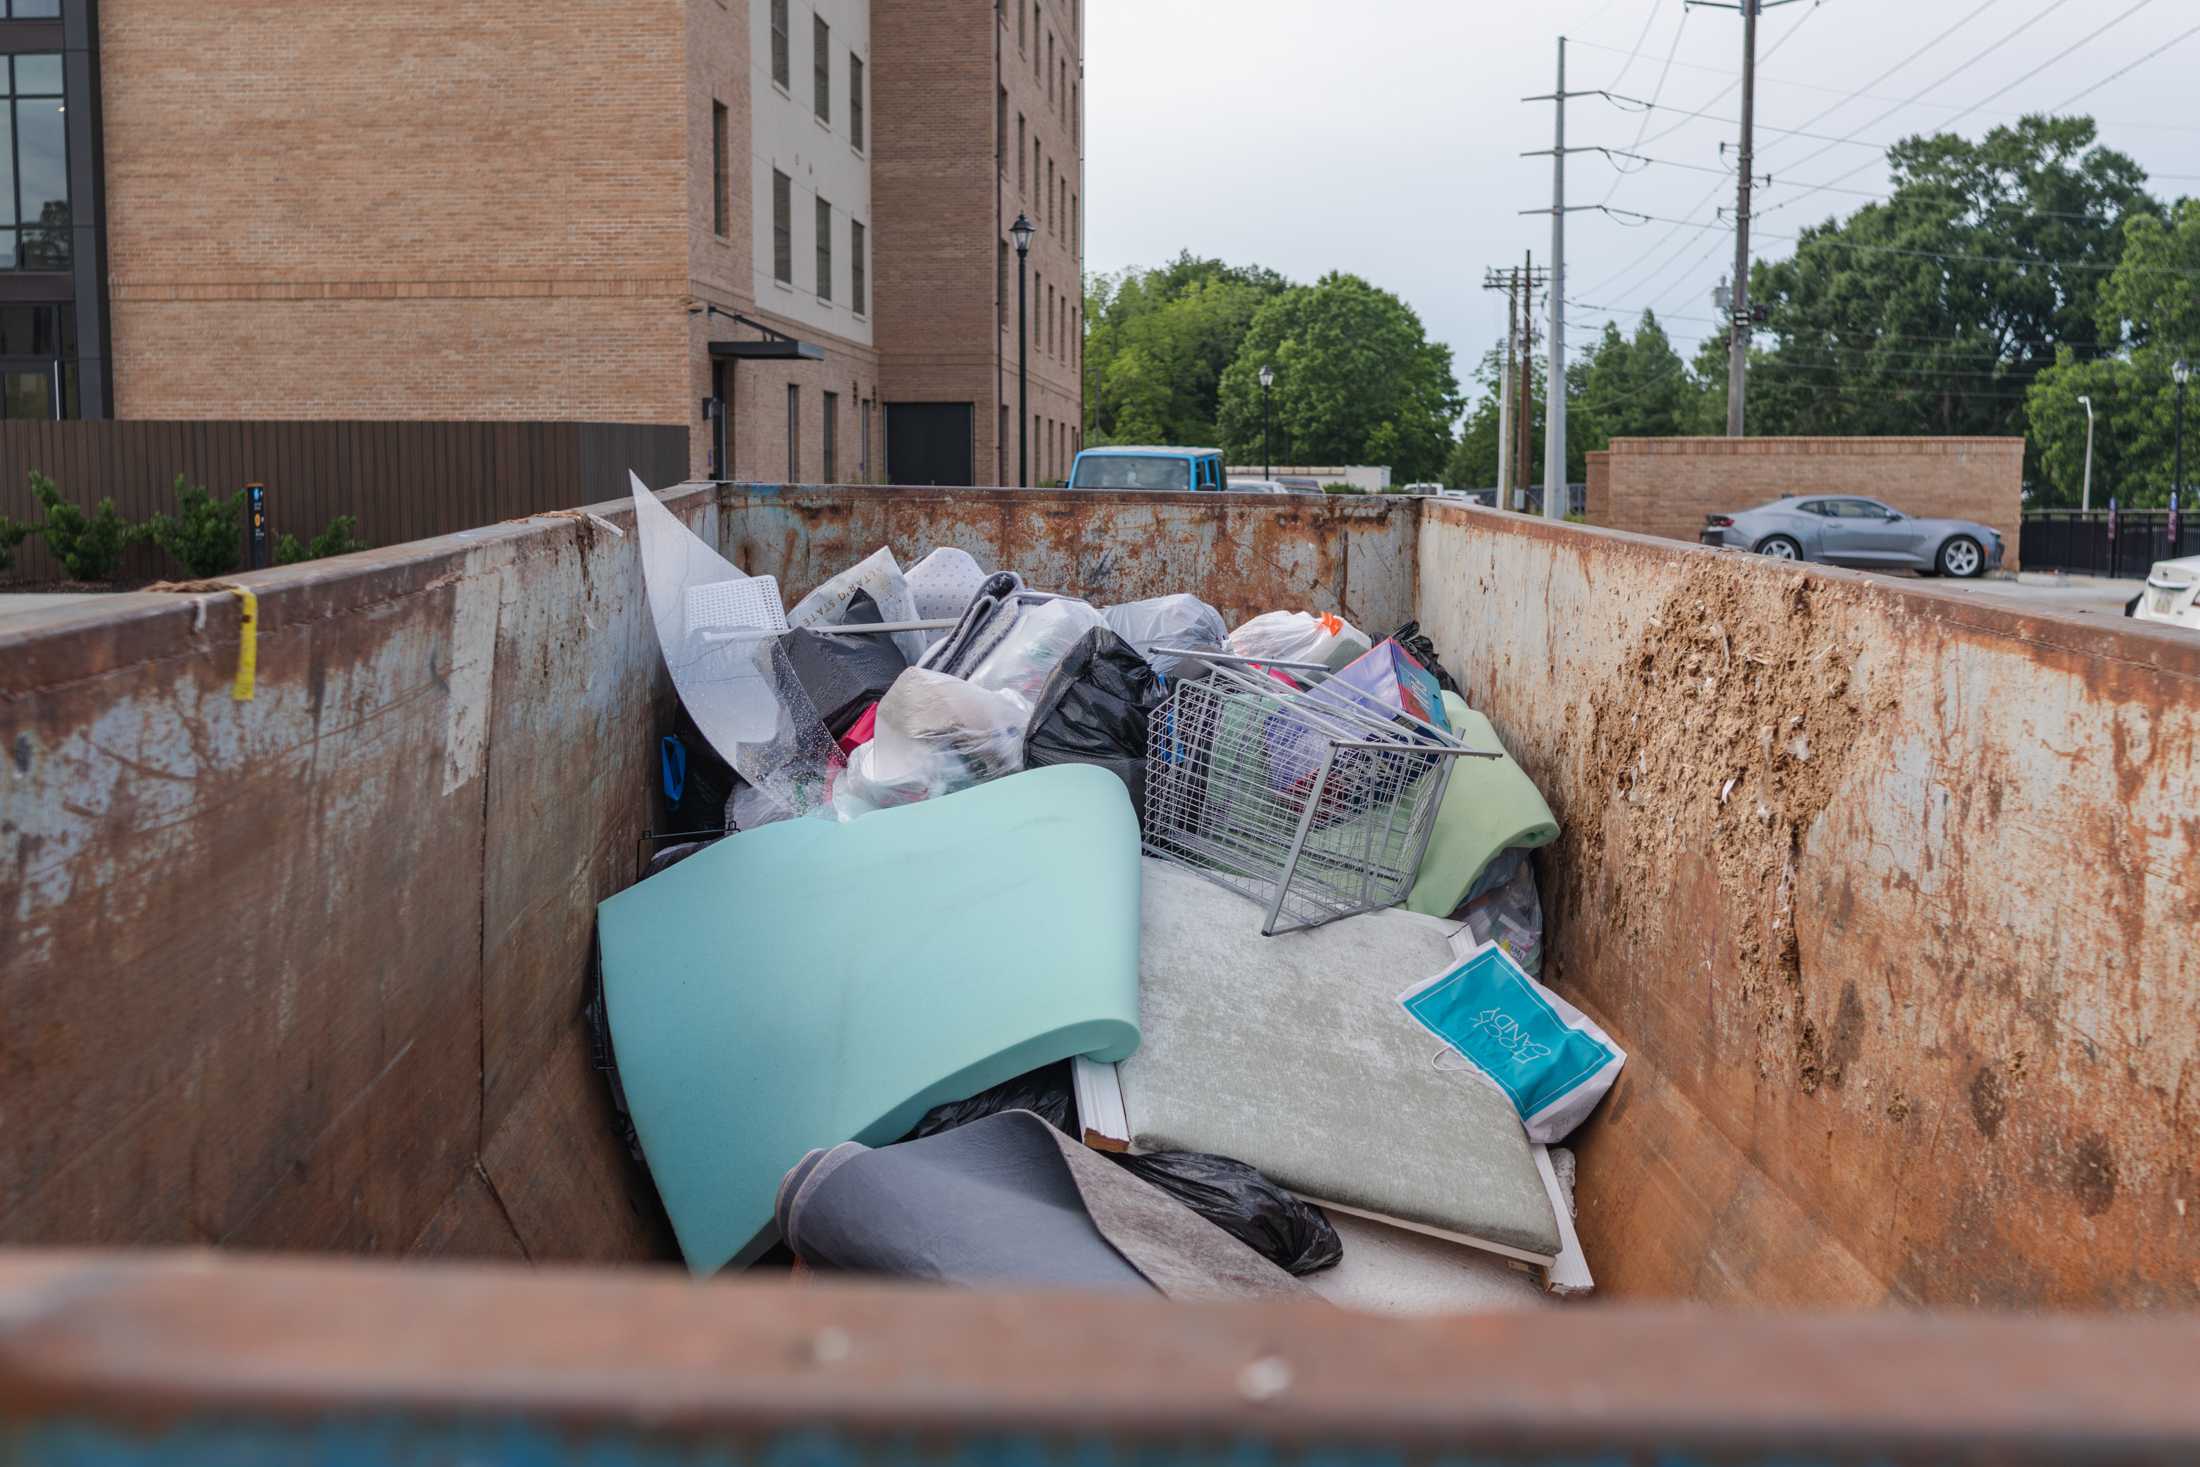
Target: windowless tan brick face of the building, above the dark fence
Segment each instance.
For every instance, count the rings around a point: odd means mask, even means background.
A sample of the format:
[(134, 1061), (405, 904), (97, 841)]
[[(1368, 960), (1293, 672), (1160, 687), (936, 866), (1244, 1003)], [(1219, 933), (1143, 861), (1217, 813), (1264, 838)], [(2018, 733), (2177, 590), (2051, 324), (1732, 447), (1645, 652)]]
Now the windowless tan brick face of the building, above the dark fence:
[(108, 0), (117, 409), (682, 422), (680, 0)]

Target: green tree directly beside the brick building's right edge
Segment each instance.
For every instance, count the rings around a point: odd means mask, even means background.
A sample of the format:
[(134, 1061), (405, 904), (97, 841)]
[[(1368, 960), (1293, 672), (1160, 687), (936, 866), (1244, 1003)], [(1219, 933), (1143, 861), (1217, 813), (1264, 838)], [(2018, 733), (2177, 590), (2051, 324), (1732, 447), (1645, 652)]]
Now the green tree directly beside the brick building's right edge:
[(1223, 367), (1285, 279), (1190, 253), (1085, 286), (1085, 442), (1217, 442)]

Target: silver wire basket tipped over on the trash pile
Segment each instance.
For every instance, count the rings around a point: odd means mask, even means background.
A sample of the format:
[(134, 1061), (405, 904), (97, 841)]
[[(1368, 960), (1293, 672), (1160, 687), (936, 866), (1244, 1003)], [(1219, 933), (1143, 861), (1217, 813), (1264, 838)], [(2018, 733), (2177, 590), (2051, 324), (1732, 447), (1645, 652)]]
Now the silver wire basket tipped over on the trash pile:
[(1148, 721), (1146, 851), (1267, 908), (1265, 937), (1397, 906), (1454, 759), (1494, 759), (1371, 697), (1186, 651), (1206, 671)]

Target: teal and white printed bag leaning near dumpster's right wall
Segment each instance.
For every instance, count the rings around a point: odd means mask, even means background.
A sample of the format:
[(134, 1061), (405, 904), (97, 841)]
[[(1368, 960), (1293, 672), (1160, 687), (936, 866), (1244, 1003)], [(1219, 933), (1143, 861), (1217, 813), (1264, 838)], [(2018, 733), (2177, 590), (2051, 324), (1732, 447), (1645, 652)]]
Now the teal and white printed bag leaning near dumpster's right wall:
[(1593, 1018), (1527, 977), (1496, 944), (1397, 1001), (1505, 1091), (1527, 1139), (1544, 1146), (1588, 1119), (1628, 1062)]

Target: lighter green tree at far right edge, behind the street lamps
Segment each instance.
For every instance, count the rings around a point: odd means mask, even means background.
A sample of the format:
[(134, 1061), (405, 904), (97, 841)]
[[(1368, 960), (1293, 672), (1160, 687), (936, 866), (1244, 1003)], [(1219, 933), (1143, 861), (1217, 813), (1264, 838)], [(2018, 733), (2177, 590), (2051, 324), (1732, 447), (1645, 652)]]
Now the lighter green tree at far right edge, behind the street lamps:
[[(2200, 343), (2200, 200), (2165, 218), (2134, 216), (2123, 257), (2099, 290), (2099, 339), (2119, 350), (2086, 359), (2075, 350), (2033, 383), (2026, 424), (2039, 444), (2042, 504), (2077, 504), (2086, 479), (2086, 405), (2092, 398), (2092, 504), (2163, 506), (2176, 462), (2171, 363)], [(2200, 418), (2196, 418), (2200, 429)], [(2200, 451), (2200, 433), (2187, 444)], [(2187, 468), (2187, 482), (2191, 479)]]

